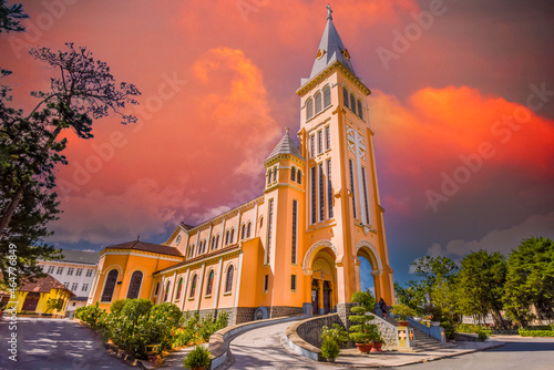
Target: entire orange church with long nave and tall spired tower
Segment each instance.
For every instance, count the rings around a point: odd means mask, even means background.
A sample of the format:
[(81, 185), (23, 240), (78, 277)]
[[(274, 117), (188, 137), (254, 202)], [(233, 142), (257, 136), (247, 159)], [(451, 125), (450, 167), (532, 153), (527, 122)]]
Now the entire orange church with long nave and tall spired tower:
[(286, 130), (269, 153), (263, 194), (161, 244), (100, 253), (89, 304), (173, 302), (229, 322), (301, 312), (346, 315), (360, 290), (360, 257), (376, 298), (394, 304), (369, 123), (370, 90), (356, 74), (328, 7), (300, 99), (298, 143)]

